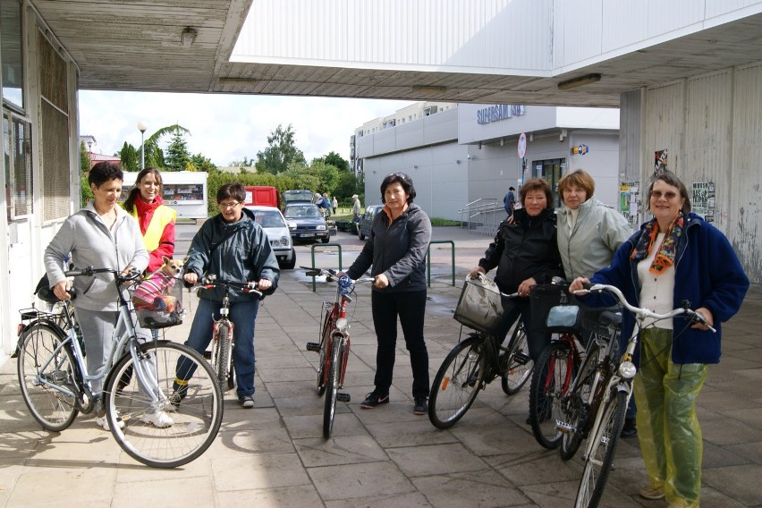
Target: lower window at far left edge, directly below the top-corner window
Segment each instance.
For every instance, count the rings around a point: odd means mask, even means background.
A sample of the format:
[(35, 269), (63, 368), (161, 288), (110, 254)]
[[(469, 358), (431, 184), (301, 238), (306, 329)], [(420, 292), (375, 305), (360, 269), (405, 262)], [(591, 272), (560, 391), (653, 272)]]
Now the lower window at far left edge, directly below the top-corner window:
[(22, 118), (3, 114), (3, 147), (5, 152), (6, 219), (32, 213), (31, 124)]

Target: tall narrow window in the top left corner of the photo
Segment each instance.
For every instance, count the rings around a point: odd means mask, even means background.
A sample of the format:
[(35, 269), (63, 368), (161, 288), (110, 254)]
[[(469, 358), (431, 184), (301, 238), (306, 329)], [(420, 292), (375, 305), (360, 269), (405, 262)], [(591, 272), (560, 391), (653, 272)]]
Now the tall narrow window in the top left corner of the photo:
[(3, 63), (3, 103), (24, 109), (24, 65), (21, 49), (21, 2), (0, 2), (0, 62)]

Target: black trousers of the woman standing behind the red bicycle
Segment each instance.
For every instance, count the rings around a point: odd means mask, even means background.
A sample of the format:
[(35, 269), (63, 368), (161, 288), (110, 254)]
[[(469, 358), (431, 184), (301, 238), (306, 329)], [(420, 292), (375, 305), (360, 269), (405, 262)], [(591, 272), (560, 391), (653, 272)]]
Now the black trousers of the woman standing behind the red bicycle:
[(405, 347), (411, 354), (413, 398), (428, 397), (428, 351), (423, 340), (426, 290), (413, 292), (372, 292), (373, 326), (376, 327), (376, 393), (389, 394), (397, 347), (397, 317), (400, 318)]

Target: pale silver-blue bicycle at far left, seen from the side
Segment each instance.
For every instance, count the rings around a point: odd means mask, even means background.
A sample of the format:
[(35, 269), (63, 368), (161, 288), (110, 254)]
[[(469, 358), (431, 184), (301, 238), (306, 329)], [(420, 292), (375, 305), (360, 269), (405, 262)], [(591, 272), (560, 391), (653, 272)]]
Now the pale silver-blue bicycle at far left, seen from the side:
[[(182, 344), (149, 338), (140, 342), (130, 301), (124, 296), (134, 289), (139, 273), (123, 276), (111, 268), (88, 267), (64, 274), (114, 276), (119, 290), (114, 348), (106, 368), (90, 374), (71, 301), (62, 301), (64, 311), (57, 315), (21, 309), (25, 322), (19, 338), (18, 377), (32, 417), (43, 428), (60, 432), (72, 425), (78, 413), (95, 411), (101, 401), (114, 439), (136, 461), (174, 468), (198, 458), (214, 441), (223, 416), (222, 391), (207, 361)], [(124, 292), (123, 284), (127, 286)], [(56, 322), (59, 318), (64, 326)], [(198, 371), (192, 382), (186, 381), (182, 411), (173, 403), (178, 362)], [(94, 393), (91, 383), (104, 377), (103, 391)], [(171, 424), (150, 423), (149, 417), (157, 411), (172, 412)]]

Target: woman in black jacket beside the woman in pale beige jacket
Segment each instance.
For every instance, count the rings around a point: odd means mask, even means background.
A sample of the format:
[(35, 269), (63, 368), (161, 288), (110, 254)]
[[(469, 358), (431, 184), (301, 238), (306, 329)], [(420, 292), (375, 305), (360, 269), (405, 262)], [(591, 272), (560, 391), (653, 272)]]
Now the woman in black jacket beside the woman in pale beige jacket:
[(528, 331), (529, 356), (538, 356), (550, 342), (550, 334), (534, 332), (530, 326), (529, 289), (536, 284), (550, 284), (562, 276), (561, 256), (555, 240), (553, 193), (542, 178), (532, 178), (519, 190), (523, 207), (513, 212), (511, 222), (500, 224), (495, 241), (489, 244), (471, 277), (486, 274), (497, 267), (495, 283), (501, 292), (518, 292), (520, 297), (503, 299), (503, 321), (497, 336), (504, 339), (516, 318), (521, 315)]

